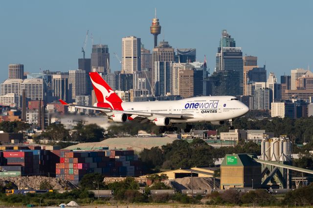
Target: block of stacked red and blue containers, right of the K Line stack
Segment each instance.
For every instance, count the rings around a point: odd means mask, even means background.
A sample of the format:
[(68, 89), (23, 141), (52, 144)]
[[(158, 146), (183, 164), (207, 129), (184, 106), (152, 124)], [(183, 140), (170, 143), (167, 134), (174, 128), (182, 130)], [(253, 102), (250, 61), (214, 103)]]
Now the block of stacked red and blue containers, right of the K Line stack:
[(133, 150), (97, 150), (63, 152), (56, 164), (56, 177), (77, 185), (87, 173), (105, 176), (141, 175), (141, 162)]

